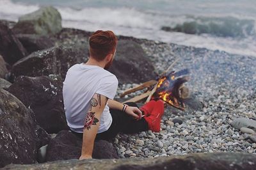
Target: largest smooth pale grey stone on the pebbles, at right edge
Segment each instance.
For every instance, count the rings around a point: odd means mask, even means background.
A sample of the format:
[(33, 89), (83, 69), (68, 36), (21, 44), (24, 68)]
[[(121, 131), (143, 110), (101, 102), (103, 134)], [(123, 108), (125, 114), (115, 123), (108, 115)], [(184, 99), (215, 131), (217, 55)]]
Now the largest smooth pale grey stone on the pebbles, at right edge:
[(248, 118), (236, 118), (231, 122), (232, 127), (240, 130), (242, 127), (252, 128), (256, 130), (256, 121)]

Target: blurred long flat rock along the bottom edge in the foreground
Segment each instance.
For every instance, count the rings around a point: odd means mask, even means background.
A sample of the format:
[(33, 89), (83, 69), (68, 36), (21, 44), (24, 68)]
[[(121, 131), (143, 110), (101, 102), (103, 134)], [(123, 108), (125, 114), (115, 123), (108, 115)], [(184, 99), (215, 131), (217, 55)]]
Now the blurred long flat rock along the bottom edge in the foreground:
[(160, 158), (65, 160), (26, 166), (10, 165), (3, 169), (255, 170), (255, 162), (256, 155), (250, 153), (193, 153)]

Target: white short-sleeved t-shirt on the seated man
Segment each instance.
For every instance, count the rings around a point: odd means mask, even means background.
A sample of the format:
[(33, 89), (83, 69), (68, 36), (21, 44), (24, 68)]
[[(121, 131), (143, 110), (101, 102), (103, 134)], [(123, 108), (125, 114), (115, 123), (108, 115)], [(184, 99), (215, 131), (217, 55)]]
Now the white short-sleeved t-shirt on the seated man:
[[(63, 100), (68, 127), (74, 132), (83, 133), (84, 120), (90, 100), (95, 93), (113, 100), (118, 80), (112, 73), (100, 66), (76, 64), (68, 69), (63, 82)], [(112, 116), (108, 104), (102, 112), (98, 133), (108, 130)]]

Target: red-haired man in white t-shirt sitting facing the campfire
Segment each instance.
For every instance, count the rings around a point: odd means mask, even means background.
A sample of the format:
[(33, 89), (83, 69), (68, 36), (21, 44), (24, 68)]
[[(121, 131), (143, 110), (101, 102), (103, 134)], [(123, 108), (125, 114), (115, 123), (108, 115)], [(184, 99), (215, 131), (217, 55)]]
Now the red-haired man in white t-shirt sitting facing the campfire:
[(117, 38), (112, 31), (96, 31), (89, 43), (88, 61), (69, 68), (63, 82), (68, 127), (83, 139), (80, 159), (92, 158), (95, 139), (110, 139), (118, 132), (159, 132), (164, 112), (162, 100), (140, 109), (113, 100), (118, 80), (106, 69), (115, 58)]

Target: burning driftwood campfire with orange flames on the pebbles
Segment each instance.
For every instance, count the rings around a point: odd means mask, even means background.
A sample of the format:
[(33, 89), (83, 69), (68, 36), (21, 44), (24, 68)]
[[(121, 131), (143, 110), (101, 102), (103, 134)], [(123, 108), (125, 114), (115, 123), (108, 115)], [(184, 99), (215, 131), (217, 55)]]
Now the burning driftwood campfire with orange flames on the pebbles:
[(176, 62), (177, 60), (166, 70), (165, 73), (163, 73), (163, 75), (161, 75), (159, 79), (157, 79), (157, 81), (152, 80), (144, 82), (140, 86), (128, 89), (120, 95), (120, 97), (124, 97), (129, 93), (147, 88), (147, 91), (142, 95), (131, 98), (125, 102), (140, 102), (147, 98), (147, 103), (150, 100), (161, 99), (177, 109), (184, 110), (185, 105), (182, 100), (189, 97), (189, 89), (184, 86), (184, 83), (189, 81), (189, 70), (184, 69), (179, 72), (168, 72)]

